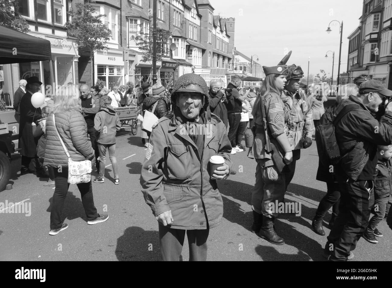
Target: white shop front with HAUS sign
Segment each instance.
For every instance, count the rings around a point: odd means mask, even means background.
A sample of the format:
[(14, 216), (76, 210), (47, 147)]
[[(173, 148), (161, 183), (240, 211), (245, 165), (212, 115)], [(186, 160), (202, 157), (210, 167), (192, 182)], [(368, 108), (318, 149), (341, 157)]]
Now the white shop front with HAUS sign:
[(125, 85), (124, 60), (122, 51), (108, 50), (94, 53), (94, 79), (105, 82), (112, 90), (114, 86)]

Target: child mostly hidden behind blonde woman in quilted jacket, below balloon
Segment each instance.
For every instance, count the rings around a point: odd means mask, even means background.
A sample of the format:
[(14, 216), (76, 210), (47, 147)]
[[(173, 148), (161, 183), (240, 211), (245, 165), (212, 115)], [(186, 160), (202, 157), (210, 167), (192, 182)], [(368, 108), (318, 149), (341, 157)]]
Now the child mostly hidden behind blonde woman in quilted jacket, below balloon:
[[(37, 123), (32, 123), (33, 125), (33, 136), (34, 138), (38, 138), (37, 143), (37, 156), (40, 159), (41, 163), (44, 162), (45, 158), (45, 149), (46, 149), (46, 118), (49, 116), (50, 108), (49, 106), (45, 106), (42, 108), (42, 119), (38, 120)], [(45, 168), (46, 169), (46, 168)], [(54, 187), (54, 170), (53, 167), (47, 167), (49, 173), (49, 180), (44, 184), (46, 187)]]

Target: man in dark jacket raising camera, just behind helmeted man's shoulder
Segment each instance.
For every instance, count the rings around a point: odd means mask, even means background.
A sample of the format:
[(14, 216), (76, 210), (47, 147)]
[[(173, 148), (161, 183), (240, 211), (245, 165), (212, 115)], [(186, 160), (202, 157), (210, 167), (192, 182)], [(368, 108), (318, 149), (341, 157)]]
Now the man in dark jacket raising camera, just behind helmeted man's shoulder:
[(221, 118), (227, 128), (229, 121), (227, 120), (227, 110), (234, 108), (234, 98), (230, 94), (225, 97), (225, 89), (222, 87), (221, 82), (213, 81), (210, 83), (209, 102), (211, 112)]

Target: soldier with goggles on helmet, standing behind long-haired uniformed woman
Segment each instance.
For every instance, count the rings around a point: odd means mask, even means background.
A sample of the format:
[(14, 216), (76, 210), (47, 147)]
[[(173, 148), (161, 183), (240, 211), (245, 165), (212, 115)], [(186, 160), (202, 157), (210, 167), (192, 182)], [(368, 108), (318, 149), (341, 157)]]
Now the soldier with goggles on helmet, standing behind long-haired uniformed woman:
[(302, 148), (308, 148), (312, 145), (312, 134), (314, 133), (314, 125), (312, 119), (312, 110), (310, 109), (309, 99), (305, 92), (299, 88), (303, 71), (300, 66), (292, 64), (288, 67), (285, 89), (283, 90), (281, 99), (290, 111), (287, 120), (287, 138), (293, 150), (293, 161), (286, 174), (286, 190), (289, 186), (295, 172), (296, 161), (301, 156)]

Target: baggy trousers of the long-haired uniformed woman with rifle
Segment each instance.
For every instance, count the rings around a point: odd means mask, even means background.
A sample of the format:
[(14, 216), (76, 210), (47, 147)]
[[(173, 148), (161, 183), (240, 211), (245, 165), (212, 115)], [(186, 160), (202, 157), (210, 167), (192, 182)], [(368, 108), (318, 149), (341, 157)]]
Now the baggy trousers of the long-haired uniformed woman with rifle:
[(279, 174), (274, 166), (265, 167), (270, 159), (256, 159), (256, 183), (252, 191), (252, 210), (267, 217), (278, 216), (278, 203), (283, 202), (286, 192), (285, 174)]

